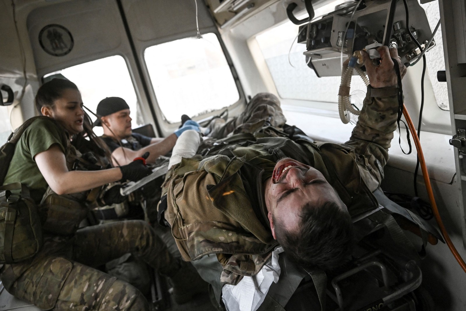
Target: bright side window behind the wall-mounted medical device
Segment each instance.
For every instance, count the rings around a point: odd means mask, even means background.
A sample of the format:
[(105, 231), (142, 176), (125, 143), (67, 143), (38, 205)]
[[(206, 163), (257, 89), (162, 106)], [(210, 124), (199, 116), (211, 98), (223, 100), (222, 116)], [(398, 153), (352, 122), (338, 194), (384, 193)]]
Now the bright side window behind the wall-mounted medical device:
[[(336, 4), (339, 3), (335, 2)], [(440, 18), (438, 3), (429, 2), (423, 4), (422, 7), (426, 10), (429, 24), (433, 30)], [(333, 7), (328, 7), (328, 11), (322, 11), (321, 15), (331, 12), (332, 9)], [(319, 16), (317, 10), (316, 16)], [(280, 97), (336, 103), (338, 101), (337, 94), (341, 78), (339, 76), (318, 78), (314, 70), (308, 68), (305, 56), (302, 54), (306, 51), (306, 44), (296, 42), (298, 28), (298, 25), (287, 21), (255, 37)], [(427, 73), (432, 81), (432, 88), (437, 104), (441, 109), (448, 110), (446, 83), (439, 83), (437, 81), (437, 71), (445, 70), (440, 28), (435, 35), (435, 41), (437, 46), (425, 54)], [(416, 66), (422, 67), (422, 60)], [(429, 85), (425, 85), (425, 87), (429, 87)], [(351, 79), (351, 91), (363, 91), (365, 93), (365, 90), (366, 87), (362, 79), (358, 76), (353, 76)]]

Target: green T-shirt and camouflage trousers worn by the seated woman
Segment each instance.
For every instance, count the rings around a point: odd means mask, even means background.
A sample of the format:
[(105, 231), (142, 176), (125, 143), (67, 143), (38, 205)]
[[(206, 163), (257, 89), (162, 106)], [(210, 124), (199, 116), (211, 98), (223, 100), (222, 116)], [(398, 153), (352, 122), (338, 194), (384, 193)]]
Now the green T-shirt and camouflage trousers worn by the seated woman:
[[(16, 174), (14, 181), (44, 194), (45, 180), (40, 172), (41, 178), (35, 176), (31, 181), (27, 172), (21, 174), (16, 159), (25, 159), (23, 168), (34, 166), (35, 154), (58, 144), (71, 169), (75, 157), (70, 155), (79, 157), (79, 152), (73, 152), (63, 133), (51, 119), (34, 121), (16, 146), (5, 182)], [(119, 221), (76, 231), (85, 217), (81, 213), (85, 210), (83, 198), (83, 194), (68, 196), (67, 206), (59, 204), (54, 208), (49, 204), (48, 208), (38, 209), (44, 229), (42, 249), (30, 260), (4, 265), (0, 270), (2, 283), (15, 297), (42, 310), (148, 310), (146, 299), (136, 288), (92, 267), (131, 252), (159, 272), (173, 276), (178, 272), (178, 262), (145, 221)]]

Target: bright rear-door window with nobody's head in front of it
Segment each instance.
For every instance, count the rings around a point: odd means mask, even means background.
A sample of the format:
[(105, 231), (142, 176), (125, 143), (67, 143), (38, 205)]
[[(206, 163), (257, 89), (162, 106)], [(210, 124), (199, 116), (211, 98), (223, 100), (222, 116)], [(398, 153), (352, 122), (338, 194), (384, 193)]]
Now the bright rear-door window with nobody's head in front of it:
[(218, 110), (240, 99), (230, 66), (213, 33), (146, 48), (144, 59), (168, 122)]

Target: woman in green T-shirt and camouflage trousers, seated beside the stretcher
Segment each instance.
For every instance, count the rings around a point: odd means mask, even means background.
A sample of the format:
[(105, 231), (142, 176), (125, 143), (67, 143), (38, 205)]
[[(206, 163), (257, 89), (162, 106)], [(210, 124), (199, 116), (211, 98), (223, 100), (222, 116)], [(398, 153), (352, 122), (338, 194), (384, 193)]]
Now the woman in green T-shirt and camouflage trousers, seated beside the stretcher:
[(53, 79), (38, 90), (35, 105), (46, 117), (34, 120), (22, 134), (3, 184), (21, 182), (31, 189), (44, 242), (33, 258), (0, 269), (7, 291), (42, 310), (148, 310), (136, 288), (92, 268), (133, 253), (171, 278), (178, 302), (188, 299), (189, 290), (199, 283), (181, 282), (185, 269), (146, 222), (77, 229), (86, 215), (82, 194), (110, 182), (138, 180), (150, 169), (133, 161), (102, 170), (73, 170), (82, 154), (101, 146), (86, 122), (79, 90), (68, 80)]

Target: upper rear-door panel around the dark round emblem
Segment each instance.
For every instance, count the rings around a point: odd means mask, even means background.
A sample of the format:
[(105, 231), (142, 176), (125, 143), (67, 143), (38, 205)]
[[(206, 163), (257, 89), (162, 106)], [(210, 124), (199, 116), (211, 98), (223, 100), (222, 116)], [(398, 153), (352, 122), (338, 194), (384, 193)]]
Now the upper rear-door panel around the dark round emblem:
[[(74, 46), (69, 54), (46, 53), (39, 42), (41, 29), (58, 24), (69, 30)], [(27, 30), (34, 51), (38, 76), (57, 69), (129, 51), (126, 35), (114, 0), (75, 0), (33, 10), (27, 17)]]

